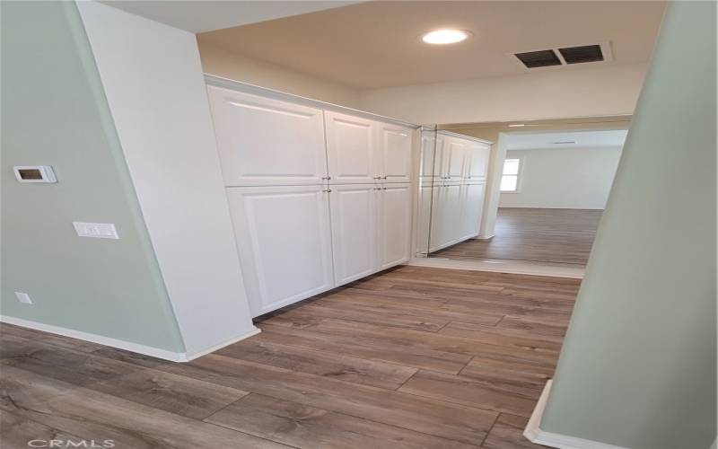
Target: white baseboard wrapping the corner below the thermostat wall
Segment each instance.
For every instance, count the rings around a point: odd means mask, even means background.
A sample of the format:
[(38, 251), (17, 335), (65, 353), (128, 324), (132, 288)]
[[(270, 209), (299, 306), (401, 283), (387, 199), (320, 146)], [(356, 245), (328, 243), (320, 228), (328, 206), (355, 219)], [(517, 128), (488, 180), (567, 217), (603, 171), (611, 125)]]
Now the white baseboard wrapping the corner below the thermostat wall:
[(239, 337), (229, 339), (229, 340), (224, 341), (223, 343), (215, 345), (211, 348), (206, 348), (204, 350), (197, 351), (193, 354), (188, 354), (186, 352), (173, 352), (173, 351), (169, 351), (167, 349), (153, 348), (151, 346), (140, 345), (138, 343), (132, 343), (130, 341), (125, 341), (125, 340), (121, 340), (121, 339), (113, 339), (111, 337), (105, 337), (104, 335), (92, 334), (90, 332), (83, 332), (82, 330), (67, 329), (67, 328), (63, 328), (60, 326), (54, 326), (52, 324), (45, 324), (43, 322), (38, 322), (38, 321), (23, 320), (22, 318), (16, 318), (13, 316), (8, 316), (8, 315), (0, 315), (0, 322), (14, 324), (15, 326), (20, 326), (22, 328), (28, 328), (28, 329), (32, 329), (32, 330), (41, 330), (43, 332), (48, 332), (51, 334), (62, 335), (64, 337), (69, 337), (71, 339), (82, 339), (85, 341), (90, 341), (92, 343), (98, 343), (100, 345), (109, 346), (111, 348), (118, 348), (118, 349), (124, 349), (126, 351), (130, 351), (130, 352), (136, 352), (137, 354), (142, 354), (143, 356), (150, 356), (150, 357), (162, 358), (163, 360), (170, 360), (171, 362), (189, 362), (190, 360), (194, 360), (197, 357), (202, 357), (206, 354), (209, 354), (210, 352), (214, 352), (217, 349), (231, 345), (232, 343), (236, 343), (237, 341), (240, 341), (242, 339), (247, 339), (247, 338), (251, 337), (252, 335), (257, 335), (261, 331), (258, 328), (253, 327), (252, 330), (250, 330), (249, 332), (247, 332)]

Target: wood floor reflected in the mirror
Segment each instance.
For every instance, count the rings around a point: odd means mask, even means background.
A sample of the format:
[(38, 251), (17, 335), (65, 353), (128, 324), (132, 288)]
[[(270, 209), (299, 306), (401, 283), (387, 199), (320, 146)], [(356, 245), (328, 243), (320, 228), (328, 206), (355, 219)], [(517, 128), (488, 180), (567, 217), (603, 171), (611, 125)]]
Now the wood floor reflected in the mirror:
[(602, 213), (593, 209), (500, 207), (493, 239), (460, 242), (432, 256), (585, 266)]

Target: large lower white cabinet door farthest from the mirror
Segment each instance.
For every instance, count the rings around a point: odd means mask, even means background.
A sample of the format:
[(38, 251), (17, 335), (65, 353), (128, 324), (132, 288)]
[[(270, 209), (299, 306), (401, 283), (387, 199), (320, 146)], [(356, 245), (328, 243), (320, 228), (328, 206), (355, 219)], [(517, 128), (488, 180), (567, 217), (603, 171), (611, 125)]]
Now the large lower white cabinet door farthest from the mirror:
[(252, 316), (334, 286), (326, 189), (227, 189)]

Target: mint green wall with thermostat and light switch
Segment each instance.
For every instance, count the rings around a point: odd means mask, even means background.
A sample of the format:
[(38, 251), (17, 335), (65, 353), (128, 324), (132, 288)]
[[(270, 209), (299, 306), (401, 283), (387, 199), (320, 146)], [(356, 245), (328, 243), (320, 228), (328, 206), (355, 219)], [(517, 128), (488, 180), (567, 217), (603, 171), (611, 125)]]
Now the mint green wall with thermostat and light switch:
[[(184, 352), (74, 2), (0, 8), (2, 313)], [(32, 164), (57, 184), (18, 183), (13, 165)], [(114, 223), (120, 240), (73, 221)]]

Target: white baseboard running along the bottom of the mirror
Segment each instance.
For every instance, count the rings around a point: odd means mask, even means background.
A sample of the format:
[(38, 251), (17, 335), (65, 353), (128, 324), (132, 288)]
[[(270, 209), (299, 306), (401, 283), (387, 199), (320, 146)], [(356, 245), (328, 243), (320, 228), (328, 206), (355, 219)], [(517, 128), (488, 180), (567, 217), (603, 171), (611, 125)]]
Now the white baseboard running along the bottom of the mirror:
[(573, 277), (582, 279), (585, 269), (556, 267), (536, 263), (521, 263), (514, 260), (451, 260), (438, 257), (414, 258), (407, 265), (433, 267), (436, 269), (469, 269), (474, 271), (493, 271), (515, 275), (534, 275), (549, 277)]

